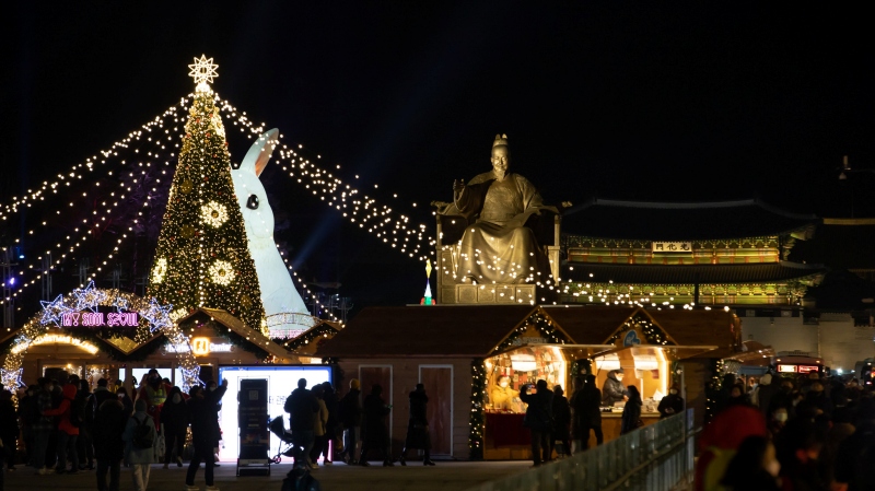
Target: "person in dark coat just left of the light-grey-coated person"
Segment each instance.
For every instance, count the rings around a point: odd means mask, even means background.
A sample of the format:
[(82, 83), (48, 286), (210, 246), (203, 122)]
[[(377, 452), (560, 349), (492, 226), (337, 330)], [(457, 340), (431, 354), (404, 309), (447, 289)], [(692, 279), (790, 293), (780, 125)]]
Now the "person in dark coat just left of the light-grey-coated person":
[[(96, 390), (95, 390), (96, 391)], [(108, 390), (106, 390), (108, 393)], [(112, 393), (109, 393), (112, 394)], [(97, 491), (118, 491), (125, 441), (121, 435), (128, 425), (125, 406), (117, 397), (104, 398), (94, 413), (94, 457), (97, 459)], [(109, 474), (109, 487), (106, 474)]]

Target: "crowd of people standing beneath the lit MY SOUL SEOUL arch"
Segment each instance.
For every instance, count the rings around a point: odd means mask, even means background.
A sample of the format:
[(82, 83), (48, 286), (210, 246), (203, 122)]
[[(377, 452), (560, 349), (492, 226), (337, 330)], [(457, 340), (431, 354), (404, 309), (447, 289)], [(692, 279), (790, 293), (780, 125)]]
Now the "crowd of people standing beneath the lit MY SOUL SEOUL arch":
[[(91, 390), (77, 375), (40, 377), (26, 387), (18, 410), (12, 394), (0, 393), (0, 441), (7, 470), (15, 470), (16, 440), (23, 439), (24, 463), (36, 475), (96, 471), (98, 491), (119, 489), (120, 469), (130, 469), (133, 488), (144, 491), (151, 465), (164, 455), (183, 467), (183, 448), (191, 430), (194, 456), (186, 487), (191, 490), (200, 463), (205, 463), (207, 491), (213, 483), (215, 449), (221, 439), (219, 409), (228, 389), (209, 382), (184, 394), (151, 370), (142, 381), (131, 381), (129, 395), (122, 381), (101, 378)], [(107, 482), (108, 476), (108, 482)]]

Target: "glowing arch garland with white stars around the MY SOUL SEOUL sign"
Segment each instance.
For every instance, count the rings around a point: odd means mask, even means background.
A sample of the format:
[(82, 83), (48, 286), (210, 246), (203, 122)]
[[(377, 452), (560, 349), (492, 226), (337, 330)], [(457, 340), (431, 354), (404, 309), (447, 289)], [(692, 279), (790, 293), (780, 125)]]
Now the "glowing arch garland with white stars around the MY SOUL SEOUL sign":
[[(21, 387), (21, 365), (24, 353), (34, 341), (48, 331), (49, 326), (60, 326), (65, 314), (75, 312), (96, 312), (97, 307), (115, 307), (118, 311), (137, 312), (140, 314), (141, 322), (136, 328), (135, 341), (142, 343), (151, 335), (160, 330), (174, 344), (188, 344), (186, 337), (171, 320), (168, 316), (170, 306), (160, 305), (155, 299), (147, 301), (132, 293), (120, 292), (118, 290), (101, 290), (94, 288), (94, 282), (89, 282), (84, 289), (73, 290), (72, 294), (65, 299), (58, 295), (51, 302), (42, 302), (43, 312), (35, 315), (18, 332), (14, 341), (9, 347), (3, 369), (0, 371), (2, 385), (13, 394)], [(180, 369), (183, 370), (183, 388), (188, 389), (198, 385), (200, 379), (200, 366), (195, 361), (191, 350), (177, 353)]]

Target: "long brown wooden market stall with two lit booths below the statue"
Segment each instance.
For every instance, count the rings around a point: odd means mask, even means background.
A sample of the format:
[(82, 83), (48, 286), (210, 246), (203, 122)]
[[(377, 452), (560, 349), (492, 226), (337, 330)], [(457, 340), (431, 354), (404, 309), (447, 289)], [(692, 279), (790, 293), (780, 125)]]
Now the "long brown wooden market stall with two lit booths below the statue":
[[(686, 396), (703, 412), (704, 356), (723, 356), (736, 344), (737, 319), (723, 311), (444, 305), (365, 308), (315, 355), (332, 359), (347, 381), (359, 378), (363, 396), (383, 386), (394, 405), (393, 452), (407, 431), (407, 394), (423, 383), (432, 455), (526, 459), (526, 407), (518, 399), (525, 384), (546, 379), (570, 396), (574, 361), (593, 361), (595, 370), (616, 359), (630, 367), (623, 383), (640, 386), (648, 399), (667, 394), (673, 376), (686, 377)], [(600, 387), (606, 373), (595, 373)], [(604, 421), (606, 440), (616, 437), (619, 413), (606, 412)], [(653, 412), (648, 421), (655, 421)]]

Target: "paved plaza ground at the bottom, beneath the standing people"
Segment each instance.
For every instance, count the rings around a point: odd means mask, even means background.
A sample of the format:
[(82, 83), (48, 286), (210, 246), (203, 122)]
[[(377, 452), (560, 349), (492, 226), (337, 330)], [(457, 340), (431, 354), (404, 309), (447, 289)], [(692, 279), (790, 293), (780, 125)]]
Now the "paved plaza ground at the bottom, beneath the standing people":
[[(463, 491), (481, 482), (498, 479), (511, 474), (524, 472), (530, 461), (488, 461), (456, 463), (438, 461), (435, 467), (423, 467), (422, 464), (408, 463), (407, 467), (381, 467), (378, 461), (371, 467), (322, 466), (313, 475), (322, 483), (324, 491)], [(167, 470), (161, 465), (153, 465), (149, 479), (149, 489), (155, 491), (182, 491), (185, 489), (185, 471), (188, 467), (171, 467)], [(271, 466), (269, 477), (236, 477), (235, 466), (223, 463), (215, 469), (215, 486), (221, 491), (279, 491), (282, 479), (291, 470), (291, 464)], [(202, 490), (203, 469), (198, 472), (196, 484)], [(60, 491), (94, 490), (96, 481), (94, 471), (80, 472), (75, 476), (34, 476), (33, 470), (18, 467), (14, 472), (5, 475), (5, 491)], [(132, 490), (130, 469), (121, 469), (121, 491)]]

